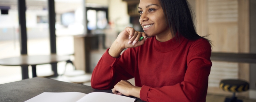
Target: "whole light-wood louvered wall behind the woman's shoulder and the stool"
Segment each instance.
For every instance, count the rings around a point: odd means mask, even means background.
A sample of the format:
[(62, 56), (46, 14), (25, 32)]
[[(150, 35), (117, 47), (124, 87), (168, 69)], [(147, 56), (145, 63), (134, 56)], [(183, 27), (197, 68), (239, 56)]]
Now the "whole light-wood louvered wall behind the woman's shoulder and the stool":
[[(197, 32), (210, 34), (213, 52), (249, 52), (249, 9), (248, 0), (195, 0)], [(213, 61), (209, 75), (208, 92), (228, 94), (218, 88), (222, 79), (249, 79), (249, 65)], [(248, 97), (246, 92), (238, 94)]]

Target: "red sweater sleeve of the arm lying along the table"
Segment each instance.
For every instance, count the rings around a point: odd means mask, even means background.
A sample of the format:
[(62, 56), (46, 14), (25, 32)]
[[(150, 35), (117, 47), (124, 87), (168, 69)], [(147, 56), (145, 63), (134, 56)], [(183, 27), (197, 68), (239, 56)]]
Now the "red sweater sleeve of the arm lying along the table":
[[(150, 87), (143, 85), (140, 98), (147, 102), (205, 102), (208, 76), (212, 66), (211, 46), (205, 39), (195, 41), (187, 54), (184, 81), (172, 86)], [(178, 60), (178, 59), (177, 59)]]

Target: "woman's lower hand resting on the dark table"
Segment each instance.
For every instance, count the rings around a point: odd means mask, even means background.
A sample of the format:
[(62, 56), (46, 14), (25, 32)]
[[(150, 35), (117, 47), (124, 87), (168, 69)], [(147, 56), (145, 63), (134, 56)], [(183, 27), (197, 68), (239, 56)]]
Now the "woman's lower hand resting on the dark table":
[(112, 92), (117, 95), (123, 94), (125, 96), (134, 96), (140, 98), (140, 90), (141, 87), (133, 86), (127, 80), (121, 80), (114, 86)]

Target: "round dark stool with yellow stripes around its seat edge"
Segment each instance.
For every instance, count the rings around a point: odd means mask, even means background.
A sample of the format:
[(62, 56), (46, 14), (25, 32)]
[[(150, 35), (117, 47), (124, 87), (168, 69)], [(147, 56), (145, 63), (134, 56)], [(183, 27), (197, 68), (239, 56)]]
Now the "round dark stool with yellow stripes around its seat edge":
[(237, 99), (236, 92), (243, 92), (248, 90), (249, 83), (239, 79), (221, 80), (221, 82), (219, 83), (219, 88), (224, 91), (233, 93), (232, 98), (226, 98), (225, 102), (243, 102), (242, 100)]

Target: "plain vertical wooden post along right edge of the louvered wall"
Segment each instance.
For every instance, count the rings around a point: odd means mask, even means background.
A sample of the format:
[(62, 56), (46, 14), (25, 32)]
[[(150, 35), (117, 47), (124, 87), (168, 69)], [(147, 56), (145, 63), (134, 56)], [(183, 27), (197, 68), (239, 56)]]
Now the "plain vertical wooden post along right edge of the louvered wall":
[[(238, 0), (238, 50), (241, 53), (250, 52), (250, 1)], [(239, 63), (239, 79), (250, 82), (250, 64)], [(238, 95), (249, 97), (249, 92)]]

